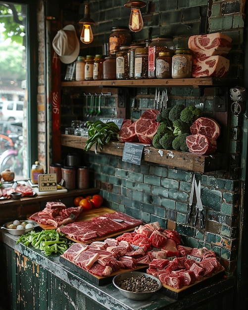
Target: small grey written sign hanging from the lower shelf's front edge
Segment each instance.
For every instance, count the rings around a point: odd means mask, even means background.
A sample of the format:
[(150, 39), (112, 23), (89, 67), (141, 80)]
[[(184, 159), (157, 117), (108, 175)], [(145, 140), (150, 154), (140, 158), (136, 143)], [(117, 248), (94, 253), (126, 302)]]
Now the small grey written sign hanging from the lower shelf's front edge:
[(144, 144), (125, 142), (122, 161), (140, 165), (143, 149)]

